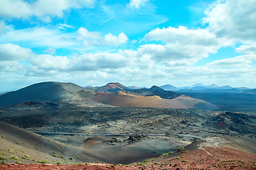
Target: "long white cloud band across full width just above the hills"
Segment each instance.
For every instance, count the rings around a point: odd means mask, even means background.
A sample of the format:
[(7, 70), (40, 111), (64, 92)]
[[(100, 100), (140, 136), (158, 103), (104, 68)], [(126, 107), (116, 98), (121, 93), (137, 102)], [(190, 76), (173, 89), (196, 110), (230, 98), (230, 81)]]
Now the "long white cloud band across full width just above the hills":
[(241, 55), (210, 62), (202, 67), (193, 67), (189, 65), (191, 60), (188, 59), (155, 60), (149, 50), (152, 48), (153, 51), (159, 50), (161, 53), (161, 50), (166, 48), (164, 45), (149, 46), (147, 49), (144, 47), (146, 46), (140, 47), (137, 51), (119, 50), (116, 53), (100, 52), (66, 57), (36, 55), (28, 48), (2, 44), (0, 45), (0, 78), (3, 79), (4, 75), (10, 74), (29, 81), (28, 84), (35, 83), (36, 79), (36, 81), (84, 83), (81, 85), (86, 85), (90, 80), (94, 80), (93, 82), (99, 85), (97, 79), (105, 83), (123, 81), (129, 84), (132, 81), (139, 84), (143, 81), (152, 85), (155, 82), (162, 85), (170, 78), (182, 81), (184, 84), (196, 83), (201, 79), (203, 83), (220, 85), (223, 79), (234, 81), (234, 84), (237, 79), (248, 84), (253, 84), (252, 79), (256, 79), (256, 69), (252, 62), (256, 60), (256, 55)]

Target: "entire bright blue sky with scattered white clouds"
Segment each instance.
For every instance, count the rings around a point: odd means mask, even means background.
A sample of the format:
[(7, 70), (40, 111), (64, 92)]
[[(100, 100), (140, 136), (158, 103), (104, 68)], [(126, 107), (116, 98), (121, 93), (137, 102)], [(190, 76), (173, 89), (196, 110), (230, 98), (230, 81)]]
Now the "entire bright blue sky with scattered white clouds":
[(0, 91), (80, 86), (256, 88), (256, 0), (1, 0)]

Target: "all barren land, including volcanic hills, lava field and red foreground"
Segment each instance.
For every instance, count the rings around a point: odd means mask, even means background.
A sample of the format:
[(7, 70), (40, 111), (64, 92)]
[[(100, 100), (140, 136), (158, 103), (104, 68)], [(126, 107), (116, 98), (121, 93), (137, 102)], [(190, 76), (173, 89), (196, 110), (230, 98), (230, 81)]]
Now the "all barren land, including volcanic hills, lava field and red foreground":
[(0, 169), (255, 168), (255, 111), (218, 110), (157, 86), (46, 84), (1, 96)]

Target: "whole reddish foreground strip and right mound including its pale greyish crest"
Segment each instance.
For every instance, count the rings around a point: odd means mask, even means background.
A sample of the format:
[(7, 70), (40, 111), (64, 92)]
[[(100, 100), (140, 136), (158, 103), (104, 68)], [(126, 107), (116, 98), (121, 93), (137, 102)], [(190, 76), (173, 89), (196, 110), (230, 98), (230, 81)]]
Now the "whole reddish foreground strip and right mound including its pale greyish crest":
[(0, 164), (2, 169), (256, 169), (255, 142), (235, 137), (207, 137), (172, 154), (129, 165)]

